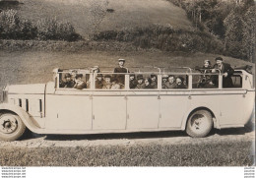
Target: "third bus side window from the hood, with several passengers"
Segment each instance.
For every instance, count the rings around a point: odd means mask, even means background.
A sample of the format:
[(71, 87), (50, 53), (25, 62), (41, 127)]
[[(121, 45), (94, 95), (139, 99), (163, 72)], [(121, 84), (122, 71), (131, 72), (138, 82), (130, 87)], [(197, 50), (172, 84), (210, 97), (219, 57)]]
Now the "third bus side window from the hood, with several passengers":
[(130, 74), (130, 89), (158, 89), (158, 75), (155, 74)]

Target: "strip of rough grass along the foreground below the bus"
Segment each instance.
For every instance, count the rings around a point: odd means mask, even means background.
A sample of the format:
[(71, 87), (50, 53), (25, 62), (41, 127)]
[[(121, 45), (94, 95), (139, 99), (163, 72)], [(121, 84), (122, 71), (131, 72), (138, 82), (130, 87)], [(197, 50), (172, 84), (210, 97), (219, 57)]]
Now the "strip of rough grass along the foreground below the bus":
[(86, 148), (0, 148), (5, 166), (246, 166), (252, 142)]

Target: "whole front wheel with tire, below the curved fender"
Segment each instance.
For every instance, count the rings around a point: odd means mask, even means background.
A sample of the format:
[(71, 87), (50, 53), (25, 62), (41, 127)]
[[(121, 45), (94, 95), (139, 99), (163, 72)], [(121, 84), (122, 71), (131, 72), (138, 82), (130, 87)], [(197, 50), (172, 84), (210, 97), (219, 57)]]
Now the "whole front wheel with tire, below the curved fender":
[(22, 119), (13, 113), (0, 115), (0, 140), (16, 141), (25, 133), (26, 126)]

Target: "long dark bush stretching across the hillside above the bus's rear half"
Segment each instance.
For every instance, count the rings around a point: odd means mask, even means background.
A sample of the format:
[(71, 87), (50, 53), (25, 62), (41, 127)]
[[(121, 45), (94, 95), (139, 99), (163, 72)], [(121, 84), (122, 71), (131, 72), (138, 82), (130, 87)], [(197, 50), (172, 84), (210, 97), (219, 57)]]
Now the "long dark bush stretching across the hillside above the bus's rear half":
[(224, 44), (214, 35), (202, 31), (174, 30), (171, 26), (151, 26), (120, 31), (101, 31), (94, 40), (132, 42), (140, 48), (164, 51), (222, 53)]

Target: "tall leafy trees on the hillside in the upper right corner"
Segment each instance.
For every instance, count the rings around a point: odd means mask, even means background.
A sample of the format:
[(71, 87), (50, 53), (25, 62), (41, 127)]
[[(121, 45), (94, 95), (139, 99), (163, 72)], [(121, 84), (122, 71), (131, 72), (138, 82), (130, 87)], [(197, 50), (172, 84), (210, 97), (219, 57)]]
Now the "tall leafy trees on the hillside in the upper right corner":
[(255, 2), (253, 0), (169, 0), (182, 7), (196, 28), (224, 41), (224, 54), (255, 62)]

